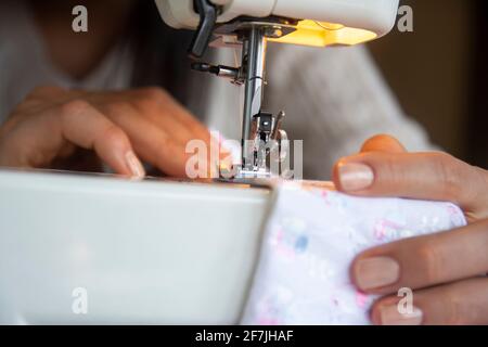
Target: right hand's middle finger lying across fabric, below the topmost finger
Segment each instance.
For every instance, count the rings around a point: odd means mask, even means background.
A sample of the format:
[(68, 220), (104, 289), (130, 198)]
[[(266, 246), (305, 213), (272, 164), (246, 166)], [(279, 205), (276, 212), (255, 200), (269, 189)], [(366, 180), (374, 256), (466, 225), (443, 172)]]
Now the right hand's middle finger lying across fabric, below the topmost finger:
[(411, 237), (361, 253), (351, 281), (367, 293), (424, 288), (468, 279), (488, 270), (488, 221), (450, 232)]

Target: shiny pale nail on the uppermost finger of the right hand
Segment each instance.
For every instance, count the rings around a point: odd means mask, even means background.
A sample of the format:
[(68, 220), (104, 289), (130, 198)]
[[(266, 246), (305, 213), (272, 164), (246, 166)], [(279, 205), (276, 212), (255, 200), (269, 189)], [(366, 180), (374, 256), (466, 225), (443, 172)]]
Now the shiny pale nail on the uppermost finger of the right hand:
[(367, 189), (374, 181), (374, 172), (371, 167), (359, 163), (339, 164), (338, 175), (341, 187), (349, 192)]

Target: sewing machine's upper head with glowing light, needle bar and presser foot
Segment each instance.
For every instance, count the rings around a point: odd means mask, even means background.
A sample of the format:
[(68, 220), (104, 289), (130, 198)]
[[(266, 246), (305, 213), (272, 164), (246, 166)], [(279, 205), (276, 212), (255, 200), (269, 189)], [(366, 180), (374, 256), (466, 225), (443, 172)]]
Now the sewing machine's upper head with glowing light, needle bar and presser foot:
[[(399, 0), (156, 0), (163, 20), (194, 29), (192, 68), (244, 85), (242, 159), (236, 178), (279, 174), (287, 155), (285, 113), (261, 108), (267, 42), (313, 47), (352, 46), (387, 34)], [(214, 66), (200, 60), (208, 46), (241, 47), (241, 66)], [(293, 115), (292, 115), (293, 116)]]

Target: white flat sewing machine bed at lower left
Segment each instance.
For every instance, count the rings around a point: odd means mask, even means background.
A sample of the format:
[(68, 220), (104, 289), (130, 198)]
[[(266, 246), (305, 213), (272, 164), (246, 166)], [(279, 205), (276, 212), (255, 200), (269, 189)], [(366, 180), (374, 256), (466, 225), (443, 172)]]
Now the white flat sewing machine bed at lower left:
[[(236, 323), (271, 198), (233, 184), (0, 170), (0, 323)], [(73, 310), (76, 288), (87, 314)]]

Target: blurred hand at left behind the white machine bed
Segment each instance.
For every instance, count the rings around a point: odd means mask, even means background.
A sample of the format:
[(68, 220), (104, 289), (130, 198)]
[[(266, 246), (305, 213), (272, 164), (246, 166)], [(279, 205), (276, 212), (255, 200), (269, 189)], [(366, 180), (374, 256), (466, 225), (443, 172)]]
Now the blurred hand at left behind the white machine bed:
[(51, 167), (76, 149), (93, 150), (117, 174), (142, 178), (139, 159), (184, 177), (190, 140), (208, 130), (158, 88), (118, 92), (34, 90), (0, 127), (0, 166)]

